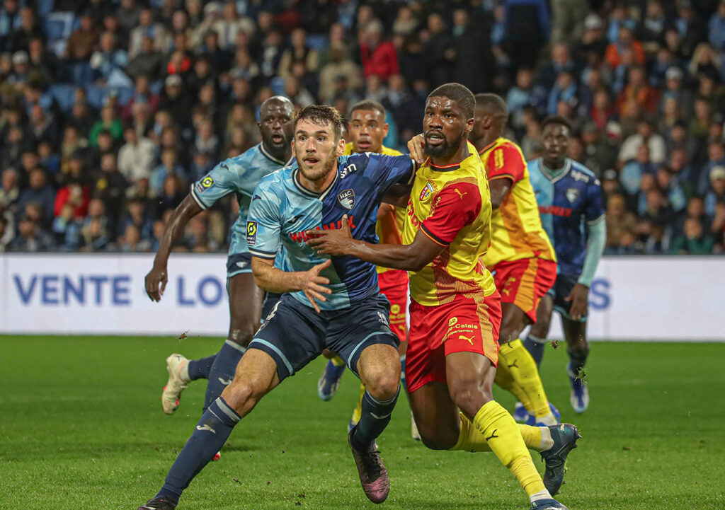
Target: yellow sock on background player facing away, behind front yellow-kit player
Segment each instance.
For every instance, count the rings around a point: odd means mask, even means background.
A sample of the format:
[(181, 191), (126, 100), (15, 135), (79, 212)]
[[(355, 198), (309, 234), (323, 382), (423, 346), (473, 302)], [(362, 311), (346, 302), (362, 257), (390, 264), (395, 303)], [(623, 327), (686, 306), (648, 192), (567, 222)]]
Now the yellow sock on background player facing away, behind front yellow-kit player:
[[(501, 344), (499, 366), (502, 364), (510, 370), (514, 382), (526, 393), (529, 405), (531, 406), (529, 407), (524, 404), (526, 410), (533, 412), (537, 418), (551, 414), (549, 400), (546, 397), (541, 377), (539, 377), (537, 362), (531, 357), (531, 354), (523, 346), (521, 340), (517, 339)], [(516, 396), (518, 397), (518, 395)], [(521, 404), (523, 404), (523, 401), (521, 401)]]

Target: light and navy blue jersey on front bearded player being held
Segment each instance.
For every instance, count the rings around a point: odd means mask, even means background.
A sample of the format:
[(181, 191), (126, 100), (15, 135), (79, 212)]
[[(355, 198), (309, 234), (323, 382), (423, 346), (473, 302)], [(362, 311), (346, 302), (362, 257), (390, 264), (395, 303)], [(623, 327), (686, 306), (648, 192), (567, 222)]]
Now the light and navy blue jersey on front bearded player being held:
[[(297, 162), (264, 177), (252, 196), (247, 219), (247, 243), (252, 256), (278, 259), (284, 249), (285, 270), (307, 271), (330, 258), (305, 244), (305, 230), (341, 227), (347, 214), (352, 237), (377, 243), (375, 225), (384, 193), (413, 177), (410, 156), (364, 153), (340, 156), (335, 180), (323, 193), (313, 193), (299, 183)], [(276, 260), (278, 265), (278, 260)], [(352, 306), (378, 293), (378, 275), (370, 262), (351, 256), (334, 256), (320, 273), (329, 278), (332, 294), (320, 309)], [(302, 292), (294, 298), (311, 306)]]

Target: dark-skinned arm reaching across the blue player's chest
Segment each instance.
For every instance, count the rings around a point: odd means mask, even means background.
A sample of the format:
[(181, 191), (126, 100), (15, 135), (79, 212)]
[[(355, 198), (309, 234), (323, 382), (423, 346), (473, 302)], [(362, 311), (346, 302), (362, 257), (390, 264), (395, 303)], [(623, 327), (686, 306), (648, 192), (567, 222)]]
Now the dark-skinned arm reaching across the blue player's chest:
[(418, 231), (410, 244), (373, 244), (352, 238), (347, 215), (342, 217), (342, 228), (307, 230), (312, 246), (319, 254), (355, 256), (376, 266), (420, 271), (438, 256), (445, 245), (436, 243)]

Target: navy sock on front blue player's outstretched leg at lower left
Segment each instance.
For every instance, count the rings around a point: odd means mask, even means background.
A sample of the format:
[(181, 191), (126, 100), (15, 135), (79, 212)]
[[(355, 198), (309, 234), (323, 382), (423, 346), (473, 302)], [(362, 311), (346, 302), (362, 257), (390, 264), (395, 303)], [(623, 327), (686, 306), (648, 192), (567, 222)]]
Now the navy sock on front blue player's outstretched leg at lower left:
[(176, 457), (156, 497), (178, 502), (179, 496), (191, 480), (224, 446), (234, 425), (240, 419), (239, 414), (236, 414), (223, 398), (220, 397), (212, 402), (196, 424), (191, 438), (188, 438), (181, 453)]

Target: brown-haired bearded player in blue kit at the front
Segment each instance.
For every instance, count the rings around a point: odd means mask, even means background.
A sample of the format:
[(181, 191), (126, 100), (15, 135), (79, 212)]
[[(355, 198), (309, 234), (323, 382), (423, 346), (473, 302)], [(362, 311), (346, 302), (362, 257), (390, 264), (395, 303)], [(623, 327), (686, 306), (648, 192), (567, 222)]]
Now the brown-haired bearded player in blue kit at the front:
[[(233, 427), (282, 380), (324, 348), (339, 354), (365, 384), (360, 422), (348, 443), (370, 501), (390, 483), (376, 438), (390, 422), (399, 393), (398, 338), (376, 268), (352, 256), (320, 256), (305, 241), (310, 229), (341, 227), (376, 243), (378, 206), (410, 193), (409, 156), (342, 156), (342, 120), (330, 106), (307, 106), (295, 120), (297, 164), (264, 177), (249, 206), (247, 243), (257, 285), (284, 296), (249, 343), (231, 385), (204, 411), (154, 498), (139, 510), (173, 510), (189, 482), (212, 460)], [(284, 247), (285, 267), (276, 267)]]

